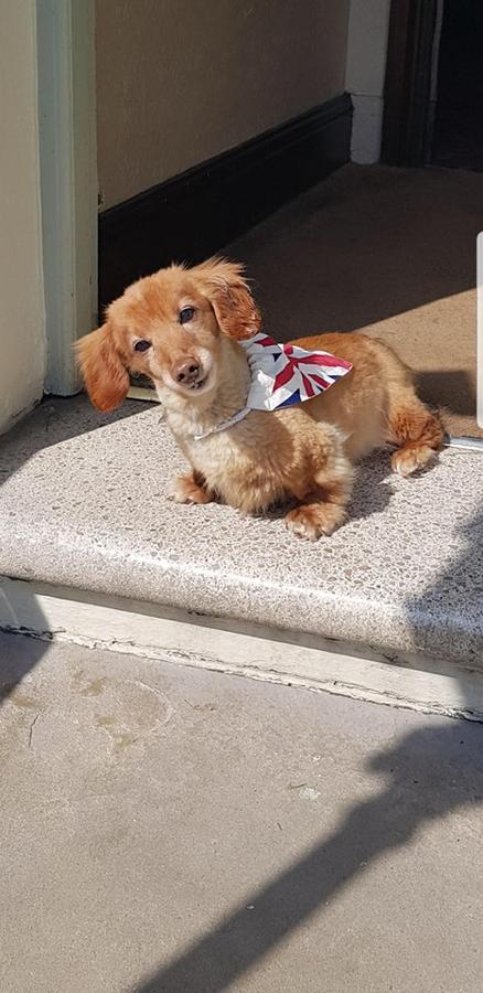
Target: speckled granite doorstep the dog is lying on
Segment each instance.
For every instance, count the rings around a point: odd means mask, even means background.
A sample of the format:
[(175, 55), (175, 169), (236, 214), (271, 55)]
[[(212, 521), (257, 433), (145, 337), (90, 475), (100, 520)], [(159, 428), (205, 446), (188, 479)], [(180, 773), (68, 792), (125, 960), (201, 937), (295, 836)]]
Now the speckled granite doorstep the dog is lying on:
[(402, 480), (377, 455), (348, 524), (314, 545), (277, 517), (173, 505), (182, 468), (157, 406), (44, 403), (0, 439), (0, 574), (483, 663), (481, 456)]

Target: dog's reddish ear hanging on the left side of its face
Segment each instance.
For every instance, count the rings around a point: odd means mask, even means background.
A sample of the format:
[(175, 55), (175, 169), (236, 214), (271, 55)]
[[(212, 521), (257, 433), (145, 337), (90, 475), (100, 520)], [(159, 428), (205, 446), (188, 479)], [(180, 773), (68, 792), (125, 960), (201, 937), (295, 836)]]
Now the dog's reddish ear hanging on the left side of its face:
[(107, 322), (76, 344), (87, 393), (98, 410), (115, 410), (129, 389), (129, 375)]

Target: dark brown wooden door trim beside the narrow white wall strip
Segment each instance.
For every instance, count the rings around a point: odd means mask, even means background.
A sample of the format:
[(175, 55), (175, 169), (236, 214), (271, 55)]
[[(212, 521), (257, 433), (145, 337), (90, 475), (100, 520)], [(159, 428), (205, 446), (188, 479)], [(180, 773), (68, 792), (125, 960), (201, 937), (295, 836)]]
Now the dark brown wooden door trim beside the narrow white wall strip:
[(437, 0), (393, 0), (387, 45), (382, 159), (423, 166), (431, 120)]

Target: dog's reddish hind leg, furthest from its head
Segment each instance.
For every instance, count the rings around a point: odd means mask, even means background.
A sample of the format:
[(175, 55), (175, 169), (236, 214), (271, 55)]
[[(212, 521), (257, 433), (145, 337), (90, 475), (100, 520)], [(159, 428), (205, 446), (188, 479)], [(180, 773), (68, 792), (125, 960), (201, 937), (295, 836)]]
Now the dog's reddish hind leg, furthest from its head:
[(399, 446), (391, 458), (395, 472), (410, 476), (422, 469), (434, 457), (443, 435), (439, 417), (425, 407), (412, 387), (391, 397), (387, 440)]

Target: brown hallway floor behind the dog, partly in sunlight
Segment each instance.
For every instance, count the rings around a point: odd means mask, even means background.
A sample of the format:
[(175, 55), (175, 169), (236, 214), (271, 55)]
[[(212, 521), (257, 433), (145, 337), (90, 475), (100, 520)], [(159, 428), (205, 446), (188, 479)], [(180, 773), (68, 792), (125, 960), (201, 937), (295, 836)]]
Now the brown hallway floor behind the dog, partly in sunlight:
[(476, 425), (477, 172), (345, 166), (233, 242), (273, 338), (364, 331), (390, 343), (449, 434)]

